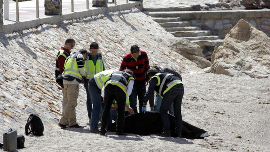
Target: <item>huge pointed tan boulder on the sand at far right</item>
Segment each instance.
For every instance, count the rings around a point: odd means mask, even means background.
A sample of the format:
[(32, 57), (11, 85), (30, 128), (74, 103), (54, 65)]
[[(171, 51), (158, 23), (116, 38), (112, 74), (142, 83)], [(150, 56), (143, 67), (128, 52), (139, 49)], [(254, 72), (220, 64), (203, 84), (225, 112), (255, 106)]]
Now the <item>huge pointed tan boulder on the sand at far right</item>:
[(223, 45), (214, 49), (211, 72), (229, 76), (270, 76), (270, 38), (245, 20), (230, 30)]

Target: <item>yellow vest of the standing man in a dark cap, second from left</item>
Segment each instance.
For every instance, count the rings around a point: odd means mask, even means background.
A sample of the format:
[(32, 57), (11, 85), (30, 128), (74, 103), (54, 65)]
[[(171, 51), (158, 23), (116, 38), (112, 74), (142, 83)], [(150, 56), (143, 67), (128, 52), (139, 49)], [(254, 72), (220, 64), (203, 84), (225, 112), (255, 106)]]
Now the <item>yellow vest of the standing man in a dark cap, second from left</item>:
[(93, 60), (85, 60), (84, 67), (85, 67), (85, 72), (87, 73), (86, 74), (87, 79), (90, 79), (95, 74), (104, 70), (102, 59), (98, 59), (96, 62), (96, 65), (94, 64)]

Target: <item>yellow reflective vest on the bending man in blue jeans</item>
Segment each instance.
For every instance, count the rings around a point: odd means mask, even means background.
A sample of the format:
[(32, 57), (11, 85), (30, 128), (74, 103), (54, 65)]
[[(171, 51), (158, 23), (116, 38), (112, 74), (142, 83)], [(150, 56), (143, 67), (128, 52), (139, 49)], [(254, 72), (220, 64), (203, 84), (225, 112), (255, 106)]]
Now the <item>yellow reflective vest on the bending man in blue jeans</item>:
[(104, 87), (104, 83), (109, 79), (110, 75), (113, 72), (114, 70), (105, 70), (105, 71), (99, 72), (98, 74), (94, 76), (94, 80), (100, 90)]

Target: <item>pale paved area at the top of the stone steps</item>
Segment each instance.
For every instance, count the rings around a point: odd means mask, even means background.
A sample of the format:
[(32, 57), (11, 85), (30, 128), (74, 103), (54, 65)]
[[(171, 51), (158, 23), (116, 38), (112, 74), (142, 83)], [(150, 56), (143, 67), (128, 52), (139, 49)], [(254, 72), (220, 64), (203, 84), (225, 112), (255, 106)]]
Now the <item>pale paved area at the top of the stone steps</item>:
[(144, 8), (186, 7), (191, 5), (205, 5), (218, 3), (218, 0), (144, 0)]

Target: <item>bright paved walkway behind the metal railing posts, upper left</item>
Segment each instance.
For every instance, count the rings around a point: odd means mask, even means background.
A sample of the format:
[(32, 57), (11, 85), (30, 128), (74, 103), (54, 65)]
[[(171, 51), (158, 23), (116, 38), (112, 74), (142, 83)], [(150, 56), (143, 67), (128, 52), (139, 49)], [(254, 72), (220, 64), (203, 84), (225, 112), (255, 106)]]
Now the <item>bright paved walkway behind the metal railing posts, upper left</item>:
[[(126, 0), (117, 0), (117, 5), (126, 3)], [(112, 0), (109, 0), (108, 6), (113, 6)], [(3, 6), (5, 9), (5, 6)], [(4, 25), (16, 22), (16, 3), (9, 3), (9, 20), (4, 20)], [(89, 10), (99, 9), (92, 7), (92, 0), (89, 0)], [(86, 0), (74, 0), (74, 12), (85, 11)], [(71, 14), (71, 0), (62, 0), (62, 14)], [(46, 18), (44, 15), (44, 0), (39, 0), (39, 18)], [(36, 0), (19, 2), (19, 21), (30, 21), (36, 19)]]

